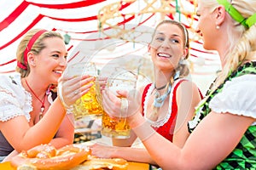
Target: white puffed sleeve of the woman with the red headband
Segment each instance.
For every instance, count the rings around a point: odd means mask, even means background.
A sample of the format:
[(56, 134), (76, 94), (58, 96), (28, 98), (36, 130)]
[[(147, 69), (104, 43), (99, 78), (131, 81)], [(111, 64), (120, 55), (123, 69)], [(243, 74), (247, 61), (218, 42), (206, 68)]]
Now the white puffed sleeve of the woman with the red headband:
[(20, 74), (0, 75), (0, 121), (6, 122), (15, 116), (26, 116), (30, 121), (32, 96), (22, 87)]

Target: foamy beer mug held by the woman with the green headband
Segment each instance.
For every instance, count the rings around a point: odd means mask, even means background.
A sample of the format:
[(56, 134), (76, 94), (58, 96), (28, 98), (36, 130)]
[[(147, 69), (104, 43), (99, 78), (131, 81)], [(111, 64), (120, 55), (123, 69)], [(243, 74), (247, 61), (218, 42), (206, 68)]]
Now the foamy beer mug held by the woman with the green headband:
[[(129, 91), (137, 87), (137, 75), (132, 71), (121, 71), (113, 77), (108, 77), (107, 88), (116, 94), (117, 90)], [(118, 96), (121, 98), (121, 96)], [(125, 99), (123, 100), (125, 101)], [(128, 106), (128, 105), (126, 105)], [(125, 112), (127, 108), (121, 108)], [(131, 128), (126, 117), (119, 113), (118, 118), (111, 118), (106, 112), (102, 114), (102, 135), (116, 139), (130, 138)]]

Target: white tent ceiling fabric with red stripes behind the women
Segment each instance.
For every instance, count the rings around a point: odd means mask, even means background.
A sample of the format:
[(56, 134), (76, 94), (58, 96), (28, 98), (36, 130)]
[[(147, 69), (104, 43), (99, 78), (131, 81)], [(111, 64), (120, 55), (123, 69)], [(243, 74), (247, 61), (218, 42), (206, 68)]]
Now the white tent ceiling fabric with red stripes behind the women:
[[(63, 36), (65, 34), (70, 36), (70, 42), (67, 44), (69, 63), (93, 59), (98, 65), (104, 65), (109, 59), (115, 57), (128, 54), (147, 55), (150, 33), (163, 19), (163, 14), (156, 11), (160, 8), (161, 1), (149, 2), (151, 6), (148, 6), (149, 3), (145, 0), (121, 2), (114, 0), (1, 0), (0, 72), (15, 71), (15, 51), (20, 37), (32, 28), (59, 31)], [(179, 4), (182, 15), (164, 14), (164, 18), (177, 20), (179, 17), (178, 20), (181, 20), (185, 26), (190, 26), (192, 30), (189, 34), (190, 60), (195, 64), (218, 66), (217, 55), (204, 50), (201, 42), (195, 39), (193, 32), (193, 27), (196, 26), (195, 15), (188, 18), (183, 14), (195, 10), (193, 1), (170, 2), (172, 8), (176, 8), (175, 4)], [(104, 22), (99, 21), (98, 14), (106, 17), (109, 5), (112, 5), (113, 14), (109, 14), (108, 17), (113, 16), (113, 18), (108, 18)], [(183, 8), (187, 11), (183, 11)], [(102, 31), (98, 30), (99, 26), (102, 26)], [(125, 29), (137, 32), (124, 33)], [(114, 37), (119, 30), (122, 31), (123, 37)], [(112, 38), (110, 38), (111, 35)]]

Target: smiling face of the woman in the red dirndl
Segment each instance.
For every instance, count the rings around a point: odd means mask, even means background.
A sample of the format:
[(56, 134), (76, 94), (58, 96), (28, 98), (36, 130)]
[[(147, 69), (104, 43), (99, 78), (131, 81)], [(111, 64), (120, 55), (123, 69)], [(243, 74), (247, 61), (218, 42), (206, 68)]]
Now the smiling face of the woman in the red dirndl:
[(181, 58), (188, 53), (184, 48), (183, 30), (172, 23), (157, 27), (149, 51), (154, 65), (160, 71), (173, 71)]

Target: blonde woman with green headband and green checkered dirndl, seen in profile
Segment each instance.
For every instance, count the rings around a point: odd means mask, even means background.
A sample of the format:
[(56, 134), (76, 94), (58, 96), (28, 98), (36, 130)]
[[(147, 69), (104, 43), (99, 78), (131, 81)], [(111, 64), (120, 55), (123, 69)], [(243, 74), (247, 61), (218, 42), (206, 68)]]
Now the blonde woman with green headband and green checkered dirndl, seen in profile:
[[(256, 169), (256, 1), (198, 0), (196, 14), (203, 47), (218, 51), (222, 71), (197, 106), (183, 148), (155, 133), (131, 95), (127, 120), (163, 169)], [(103, 94), (103, 104), (121, 104), (110, 97)]]

